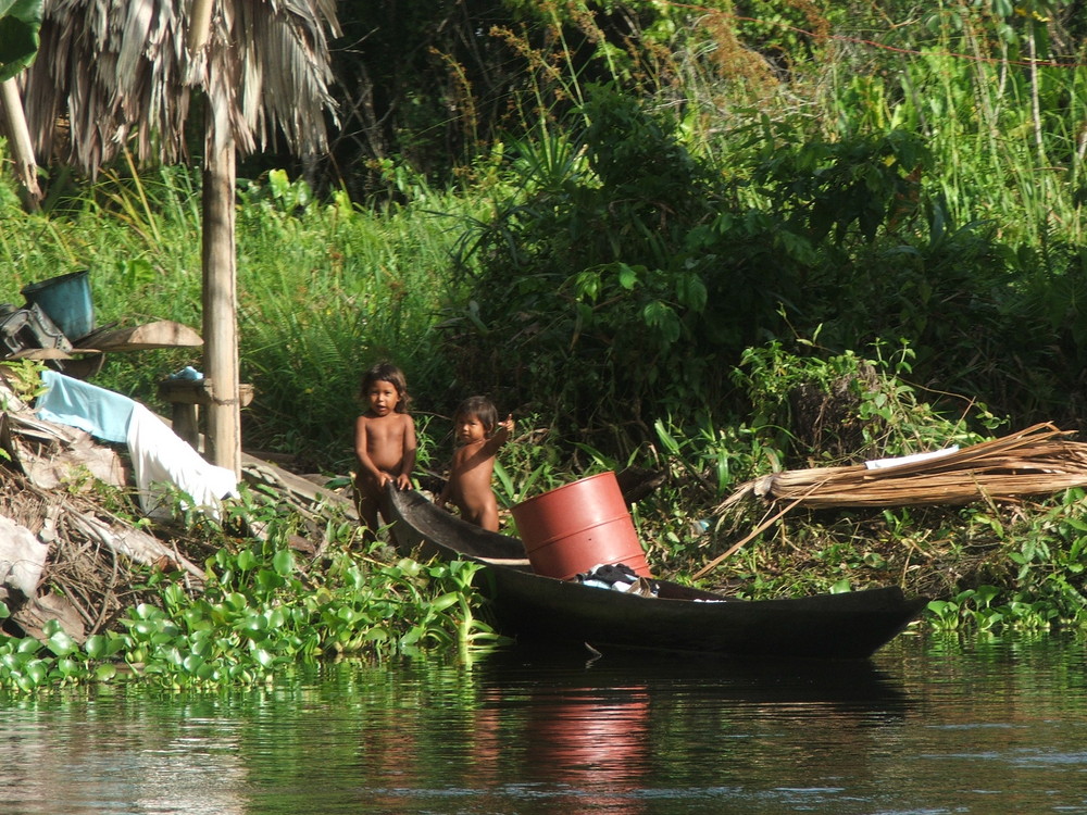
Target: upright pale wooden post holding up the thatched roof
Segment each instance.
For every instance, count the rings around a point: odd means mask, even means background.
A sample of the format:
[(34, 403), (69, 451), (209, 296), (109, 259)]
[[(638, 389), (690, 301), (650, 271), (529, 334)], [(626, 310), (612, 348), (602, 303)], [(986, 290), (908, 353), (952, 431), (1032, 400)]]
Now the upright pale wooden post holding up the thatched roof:
[(204, 375), (211, 380), (207, 457), (241, 474), (237, 283), (234, 231), (234, 137), (217, 93), (208, 97), (203, 173)]

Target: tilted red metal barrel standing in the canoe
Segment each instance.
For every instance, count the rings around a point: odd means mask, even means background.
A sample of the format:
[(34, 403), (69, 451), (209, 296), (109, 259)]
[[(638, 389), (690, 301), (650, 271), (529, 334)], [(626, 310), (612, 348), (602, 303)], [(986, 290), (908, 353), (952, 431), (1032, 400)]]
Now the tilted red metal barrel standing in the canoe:
[(539, 575), (569, 580), (598, 564), (625, 563), (652, 576), (612, 472), (529, 498), (511, 512)]

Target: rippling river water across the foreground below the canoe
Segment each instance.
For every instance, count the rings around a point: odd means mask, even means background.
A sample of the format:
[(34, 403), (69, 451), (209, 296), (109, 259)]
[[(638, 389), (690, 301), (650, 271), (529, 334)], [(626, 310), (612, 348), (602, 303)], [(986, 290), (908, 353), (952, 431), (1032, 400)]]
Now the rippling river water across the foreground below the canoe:
[(1087, 813), (1083, 638), (327, 665), (0, 698), (0, 813)]

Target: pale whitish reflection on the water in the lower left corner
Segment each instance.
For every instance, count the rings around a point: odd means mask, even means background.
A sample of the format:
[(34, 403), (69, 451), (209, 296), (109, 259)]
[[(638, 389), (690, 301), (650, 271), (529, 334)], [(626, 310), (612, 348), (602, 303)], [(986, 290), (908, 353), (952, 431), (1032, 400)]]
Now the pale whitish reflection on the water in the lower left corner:
[(0, 718), (2, 811), (245, 813), (241, 729), (200, 709), (109, 690), (9, 700)]

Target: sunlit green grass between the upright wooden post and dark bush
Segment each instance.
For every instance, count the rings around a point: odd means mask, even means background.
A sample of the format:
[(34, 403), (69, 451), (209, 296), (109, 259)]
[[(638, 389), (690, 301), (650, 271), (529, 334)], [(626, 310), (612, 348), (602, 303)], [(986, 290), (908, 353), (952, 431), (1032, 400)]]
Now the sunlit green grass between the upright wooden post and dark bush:
[[(296, 185), (297, 188), (297, 185)], [(342, 461), (362, 372), (404, 368), (415, 406), (450, 387), (432, 328), (452, 299), (451, 193), (386, 210), (342, 197), (296, 210), (286, 193), (243, 198), (238, 218), (242, 373), (255, 386), (250, 441)], [(433, 208), (433, 209), (432, 209)], [(337, 455), (338, 453), (338, 455)]]

